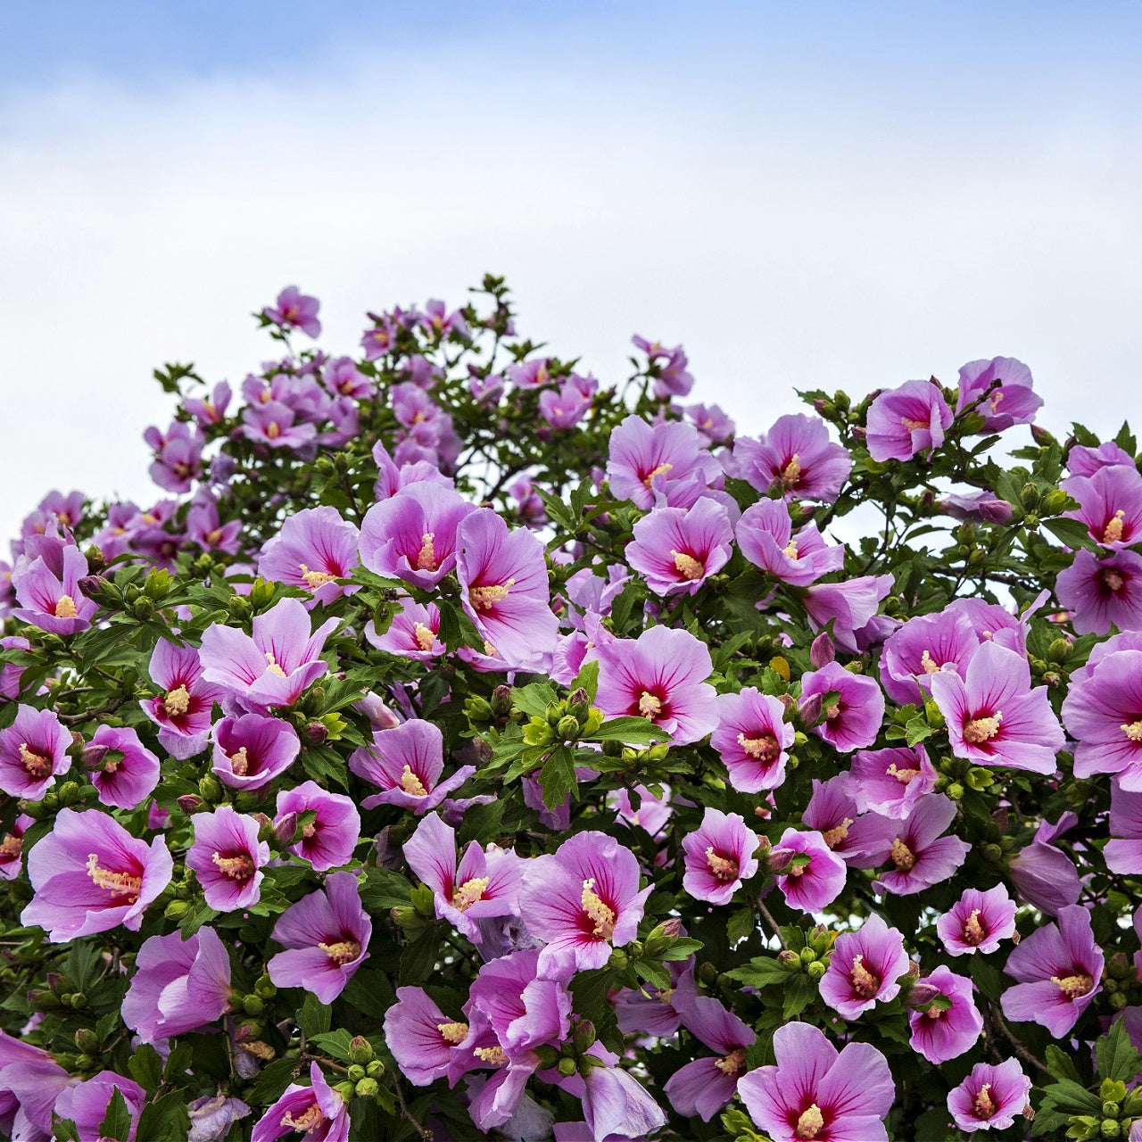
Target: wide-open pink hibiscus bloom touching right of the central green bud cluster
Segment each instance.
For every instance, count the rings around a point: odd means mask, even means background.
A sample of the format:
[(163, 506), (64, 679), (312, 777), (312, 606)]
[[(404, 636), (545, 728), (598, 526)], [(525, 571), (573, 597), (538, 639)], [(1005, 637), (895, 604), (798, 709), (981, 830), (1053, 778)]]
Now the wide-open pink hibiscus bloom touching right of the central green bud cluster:
[(609, 717), (633, 715), (660, 725), (676, 745), (701, 741), (717, 727), (714, 673), (706, 644), (689, 630), (651, 627), (636, 640), (596, 646), (598, 693)]

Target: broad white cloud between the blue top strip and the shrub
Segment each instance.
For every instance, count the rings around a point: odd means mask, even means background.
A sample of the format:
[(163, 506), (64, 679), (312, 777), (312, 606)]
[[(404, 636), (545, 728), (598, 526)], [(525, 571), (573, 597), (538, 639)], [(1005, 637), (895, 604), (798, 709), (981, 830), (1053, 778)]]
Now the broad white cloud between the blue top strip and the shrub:
[(781, 91), (473, 43), (9, 106), (0, 530), (50, 488), (155, 497), (151, 369), (241, 380), (272, 354), (248, 314), (291, 282), (349, 351), (367, 308), (502, 273), (525, 333), (604, 378), (632, 332), (683, 341), (694, 397), (753, 432), (795, 386), (952, 380), (995, 354), (1032, 367), (1049, 426), (1140, 419), (1127, 128)]

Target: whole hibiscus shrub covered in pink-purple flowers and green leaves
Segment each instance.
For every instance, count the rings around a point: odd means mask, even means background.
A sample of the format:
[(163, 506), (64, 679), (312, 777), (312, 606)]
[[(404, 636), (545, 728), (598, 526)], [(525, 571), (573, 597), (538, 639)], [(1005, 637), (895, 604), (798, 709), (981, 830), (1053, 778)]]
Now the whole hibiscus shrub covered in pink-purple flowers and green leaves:
[(995, 357), (740, 436), (491, 278), (258, 319), (5, 566), (13, 1137), (1142, 1132), (1128, 429)]

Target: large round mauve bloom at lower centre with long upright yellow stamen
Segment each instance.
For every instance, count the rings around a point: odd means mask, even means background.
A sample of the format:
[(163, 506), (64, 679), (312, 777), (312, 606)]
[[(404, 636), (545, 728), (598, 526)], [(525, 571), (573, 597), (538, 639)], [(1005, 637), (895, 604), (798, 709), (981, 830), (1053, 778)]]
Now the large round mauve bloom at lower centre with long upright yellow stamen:
[(638, 891), (638, 859), (603, 833), (578, 833), (525, 869), (520, 912), (547, 947), (540, 974), (566, 979), (602, 967), (634, 940), (653, 885)]

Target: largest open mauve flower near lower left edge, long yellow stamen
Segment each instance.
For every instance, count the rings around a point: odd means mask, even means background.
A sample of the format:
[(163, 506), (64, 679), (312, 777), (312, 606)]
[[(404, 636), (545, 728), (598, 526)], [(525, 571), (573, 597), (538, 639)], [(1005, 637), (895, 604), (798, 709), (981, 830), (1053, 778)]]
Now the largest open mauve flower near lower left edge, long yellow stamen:
[(143, 912), (170, 883), (174, 861), (162, 837), (150, 845), (98, 810), (63, 809), (27, 854), (35, 895), (21, 923), (47, 930), (53, 943), (107, 932), (138, 932)]

